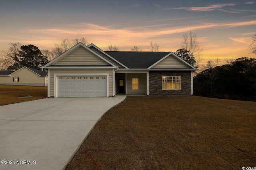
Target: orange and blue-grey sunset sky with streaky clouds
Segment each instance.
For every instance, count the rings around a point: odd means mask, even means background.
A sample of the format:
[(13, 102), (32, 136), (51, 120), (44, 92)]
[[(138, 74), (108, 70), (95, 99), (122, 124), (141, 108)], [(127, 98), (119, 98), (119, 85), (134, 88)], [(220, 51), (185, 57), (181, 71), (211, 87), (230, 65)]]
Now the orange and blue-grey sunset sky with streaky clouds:
[(6, 0), (0, 2), (0, 50), (8, 43), (51, 50), (54, 43), (84, 37), (102, 50), (149, 42), (160, 51), (181, 48), (193, 31), (209, 59), (256, 57), (248, 45), (256, 33), (256, 0)]

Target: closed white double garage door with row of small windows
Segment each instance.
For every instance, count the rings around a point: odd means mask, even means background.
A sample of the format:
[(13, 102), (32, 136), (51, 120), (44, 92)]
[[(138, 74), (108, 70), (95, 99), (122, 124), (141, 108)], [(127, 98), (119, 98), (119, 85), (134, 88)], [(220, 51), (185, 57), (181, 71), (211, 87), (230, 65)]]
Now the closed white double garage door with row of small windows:
[(106, 97), (106, 76), (58, 76), (58, 97)]

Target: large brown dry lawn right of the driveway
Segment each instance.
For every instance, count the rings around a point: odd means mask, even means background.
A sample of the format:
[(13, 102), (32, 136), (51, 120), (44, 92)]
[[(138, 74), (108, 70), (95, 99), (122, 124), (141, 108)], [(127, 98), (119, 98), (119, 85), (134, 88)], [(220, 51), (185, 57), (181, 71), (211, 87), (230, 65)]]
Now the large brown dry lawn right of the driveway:
[(128, 96), (110, 109), (67, 170), (256, 167), (256, 102)]

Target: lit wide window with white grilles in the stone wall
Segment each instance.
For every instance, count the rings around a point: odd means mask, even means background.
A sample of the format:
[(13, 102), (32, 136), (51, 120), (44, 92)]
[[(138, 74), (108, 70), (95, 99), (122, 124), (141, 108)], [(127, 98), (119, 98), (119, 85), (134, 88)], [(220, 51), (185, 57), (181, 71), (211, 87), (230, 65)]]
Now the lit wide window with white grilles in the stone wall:
[(180, 90), (180, 76), (162, 76), (162, 90)]

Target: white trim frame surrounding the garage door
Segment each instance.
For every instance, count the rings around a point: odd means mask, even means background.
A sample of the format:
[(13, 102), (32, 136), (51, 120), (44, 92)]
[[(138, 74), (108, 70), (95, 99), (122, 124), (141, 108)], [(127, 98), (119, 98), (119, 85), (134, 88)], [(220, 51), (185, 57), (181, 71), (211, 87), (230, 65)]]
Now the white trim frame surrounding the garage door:
[(106, 76), (107, 79), (107, 97), (109, 97), (109, 74), (54, 74), (54, 98), (58, 98), (58, 76)]

